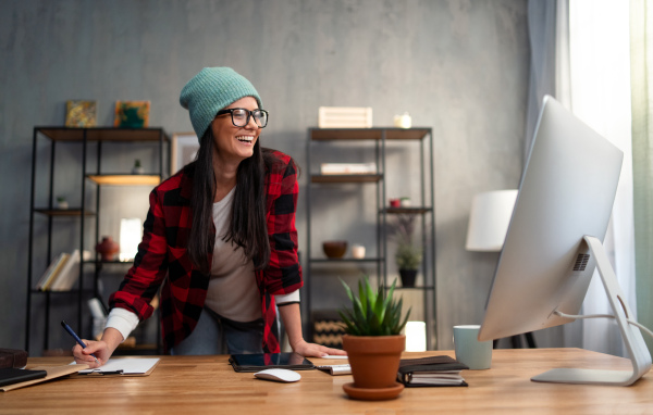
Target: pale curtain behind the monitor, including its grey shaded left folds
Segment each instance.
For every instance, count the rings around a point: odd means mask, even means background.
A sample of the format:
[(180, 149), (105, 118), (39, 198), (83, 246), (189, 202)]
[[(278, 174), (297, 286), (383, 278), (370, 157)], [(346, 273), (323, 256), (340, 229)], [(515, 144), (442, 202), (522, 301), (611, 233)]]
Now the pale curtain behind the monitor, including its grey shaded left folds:
[[(629, 2), (529, 0), (531, 78), (526, 131), (530, 152), (542, 97), (553, 95), (586, 124), (624, 151), (613, 217), (604, 241), (626, 301), (636, 310)], [(597, 274), (582, 314), (612, 313)], [(577, 320), (563, 326), (563, 343), (624, 355), (616, 324)]]

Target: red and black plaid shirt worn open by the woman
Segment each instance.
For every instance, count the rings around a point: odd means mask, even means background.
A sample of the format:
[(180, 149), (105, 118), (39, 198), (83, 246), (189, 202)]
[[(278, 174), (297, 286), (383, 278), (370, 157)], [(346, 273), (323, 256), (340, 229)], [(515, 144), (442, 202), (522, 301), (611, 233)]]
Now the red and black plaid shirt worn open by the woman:
[[(272, 154), (276, 161), (266, 174), (266, 212), (272, 252), (268, 266), (256, 272), (256, 280), (264, 322), (263, 351), (278, 353), (279, 329), (272, 295), (291, 293), (304, 282), (295, 228), (299, 192), (296, 166), (288, 155), (279, 151)], [(186, 252), (192, 226), (192, 192), (193, 177), (184, 169), (152, 190), (134, 266), (110, 298), (111, 307), (130, 310), (144, 320), (152, 315), (150, 301), (161, 287), (165, 351), (190, 335), (202, 312), (209, 286), (209, 275), (196, 269)]]

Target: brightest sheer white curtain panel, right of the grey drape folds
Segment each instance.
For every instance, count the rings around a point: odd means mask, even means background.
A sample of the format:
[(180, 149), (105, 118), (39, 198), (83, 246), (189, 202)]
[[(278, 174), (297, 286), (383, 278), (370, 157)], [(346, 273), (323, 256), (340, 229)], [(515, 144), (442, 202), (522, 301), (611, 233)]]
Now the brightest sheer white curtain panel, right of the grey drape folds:
[[(567, 95), (562, 101), (568, 100), (576, 116), (624, 151), (621, 177), (604, 247), (626, 301), (634, 311), (629, 2), (570, 0), (568, 5), (569, 79), (558, 79), (556, 85), (562, 88), (560, 93)], [(567, 18), (564, 12), (558, 9), (558, 18)], [(564, 26), (563, 22), (558, 24), (558, 28)], [(558, 45), (564, 45), (564, 30), (558, 30)], [(564, 65), (564, 61), (558, 63)], [(565, 68), (556, 74), (564, 77)], [(613, 313), (597, 273), (590, 285), (582, 313)], [(569, 329), (579, 324), (582, 325), (582, 348), (625, 354), (614, 320), (577, 322)], [(566, 334), (569, 329), (566, 328)], [(568, 339), (575, 341), (574, 336)]]

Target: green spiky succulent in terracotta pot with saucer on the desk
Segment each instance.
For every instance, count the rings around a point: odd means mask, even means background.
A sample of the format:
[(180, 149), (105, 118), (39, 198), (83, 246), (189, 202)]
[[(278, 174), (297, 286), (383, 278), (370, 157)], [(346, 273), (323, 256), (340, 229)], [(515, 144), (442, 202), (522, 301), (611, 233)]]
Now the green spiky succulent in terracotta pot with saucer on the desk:
[(343, 281), (352, 309), (340, 311), (345, 325), (343, 349), (349, 357), (354, 383), (343, 386), (355, 399), (384, 400), (396, 398), (404, 386), (396, 381), (406, 336), (402, 329), (410, 310), (402, 318), (403, 300), (393, 299), (394, 281), (387, 292), (377, 291), (366, 276), (358, 281), (358, 294)]

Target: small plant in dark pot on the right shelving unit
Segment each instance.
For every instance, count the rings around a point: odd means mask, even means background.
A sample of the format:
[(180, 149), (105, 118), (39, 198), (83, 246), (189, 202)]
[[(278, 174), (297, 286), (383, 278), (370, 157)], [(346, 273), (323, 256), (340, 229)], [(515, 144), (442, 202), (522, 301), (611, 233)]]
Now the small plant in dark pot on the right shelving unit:
[(415, 215), (397, 215), (394, 235), (397, 241), (395, 262), (399, 269), (403, 287), (415, 287), (417, 271), (422, 262), (422, 250), (420, 246), (412, 242), (415, 230)]

